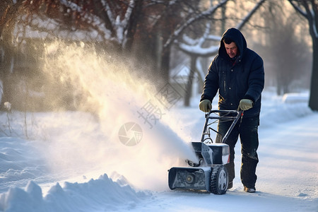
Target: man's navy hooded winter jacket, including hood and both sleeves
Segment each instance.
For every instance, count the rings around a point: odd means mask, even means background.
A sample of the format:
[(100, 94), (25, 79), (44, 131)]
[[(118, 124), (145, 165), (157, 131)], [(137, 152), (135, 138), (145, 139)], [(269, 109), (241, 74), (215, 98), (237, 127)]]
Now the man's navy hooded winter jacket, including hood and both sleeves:
[[(240, 55), (233, 60), (226, 53), (223, 38), (228, 37), (235, 42)], [(261, 110), (261, 91), (264, 88), (263, 60), (257, 53), (247, 48), (242, 33), (230, 28), (220, 41), (218, 55), (213, 59), (204, 81), (201, 100), (213, 100), (219, 93), (220, 110), (237, 110), (242, 99), (252, 100), (254, 106), (244, 112), (244, 117), (252, 117)]]

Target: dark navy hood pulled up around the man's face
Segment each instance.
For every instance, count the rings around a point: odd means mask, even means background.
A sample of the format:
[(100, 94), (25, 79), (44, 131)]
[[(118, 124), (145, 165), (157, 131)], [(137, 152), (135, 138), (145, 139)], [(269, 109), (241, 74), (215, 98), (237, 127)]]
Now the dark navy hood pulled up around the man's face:
[(231, 40), (235, 42), (235, 44), (237, 45), (240, 51), (240, 58), (242, 59), (247, 49), (247, 43), (246, 43), (245, 37), (240, 32), (240, 30), (237, 30), (235, 28), (230, 28), (225, 31), (225, 33), (222, 36), (222, 39), (220, 40), (220, 49), (218, 49), (218, 54), (221, 57), (228, 57), (228, 54), (226, 54), (226, 50), (223, 43), (223, 38), (225, 37), (230, 38)]

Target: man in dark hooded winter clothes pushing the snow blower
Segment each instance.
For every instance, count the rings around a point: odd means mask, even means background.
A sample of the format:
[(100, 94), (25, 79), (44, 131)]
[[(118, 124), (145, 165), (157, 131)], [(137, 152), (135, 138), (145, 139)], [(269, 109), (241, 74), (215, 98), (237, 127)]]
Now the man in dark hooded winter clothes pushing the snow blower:
[[(228, 169), (228, 189), (232, 188), (235, 177), (234, 149), (238, 136), (242, 144), (242, 165), (240, 177), (245, 192), (255, 192), (257, 180), (256, 167), (259, 162), (258, 126), (261, 110), (261, 91), (264, 88), (264, 66), (259, 55), (247, 48), (242, 33), (230, 28), (220, 40), (218, 55), (213, 59), (204, 81), (204, 90), (199, 104), (200, 110), (209, 112), (211, 102), (219, 93), (220, 110), (244, 110), (241, 122), (237, 122), (226, 143), (230, 146), (230, 163)], [(231, 122), (220, 122), (218, 131), (225, 136)], [(220, 143), (221, 136), (216, 137)]]

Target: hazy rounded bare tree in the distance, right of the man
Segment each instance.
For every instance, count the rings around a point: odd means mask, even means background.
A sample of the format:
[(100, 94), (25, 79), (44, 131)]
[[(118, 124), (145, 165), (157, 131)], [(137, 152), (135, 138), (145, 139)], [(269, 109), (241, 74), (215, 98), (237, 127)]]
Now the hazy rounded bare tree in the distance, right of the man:
[(284, 2), (269, 4), (262, 15), (266, 20), (266, 43), (259, 53), (266, 59), (268, 85), (276, 86), (278, 95), (305, 88), (301, 82), (309, 73), (310, 49), (297, 31), (304, 20), (293, 11), (287, 11)]

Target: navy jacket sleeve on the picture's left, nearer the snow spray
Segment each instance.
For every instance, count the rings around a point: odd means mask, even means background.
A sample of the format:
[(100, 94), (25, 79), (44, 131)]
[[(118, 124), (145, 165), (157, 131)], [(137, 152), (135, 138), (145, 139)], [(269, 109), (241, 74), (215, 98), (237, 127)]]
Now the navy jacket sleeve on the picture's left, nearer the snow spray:
[(218, 92), (218, 71), (216, 70), (216, 59), (214, 59), (208, 68), (208, 74), (204, 80), (204, 89), (201, 95), (201, 100), (210, 100), (212, 102), (213, 98)]

